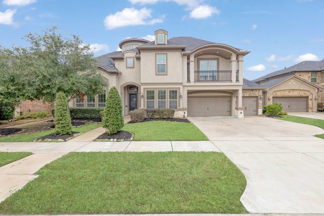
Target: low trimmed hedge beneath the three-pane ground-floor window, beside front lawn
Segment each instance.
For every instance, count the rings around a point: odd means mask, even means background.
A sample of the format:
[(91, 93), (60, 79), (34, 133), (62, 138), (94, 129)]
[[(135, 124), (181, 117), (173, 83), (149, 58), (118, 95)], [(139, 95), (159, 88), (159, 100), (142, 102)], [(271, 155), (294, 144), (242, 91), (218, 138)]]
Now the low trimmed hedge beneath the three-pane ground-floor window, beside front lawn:
[(174, 109), (137, 109), (130, 111), (131, 120), (133, 123), (141, 122), (145, 118), (173, 118), (175, 110)]

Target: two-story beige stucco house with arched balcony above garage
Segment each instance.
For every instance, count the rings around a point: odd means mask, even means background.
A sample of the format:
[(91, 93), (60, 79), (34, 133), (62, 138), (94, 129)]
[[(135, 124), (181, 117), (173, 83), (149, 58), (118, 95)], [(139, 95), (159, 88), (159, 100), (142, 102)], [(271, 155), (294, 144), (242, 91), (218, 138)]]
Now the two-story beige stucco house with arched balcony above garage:
[[(250, 51), (193, 37), (169, 39), (165, 30), (154, 35), (154, 41), (125, 39), (119, 43), (121, 51), (97, 57), (102, 76), (120, 94), (124, 115), (141, 108), (171, 108), (181, 117), (243, 117), (243, 57)], [(104, 106), (107, 91), (69, 105)]]

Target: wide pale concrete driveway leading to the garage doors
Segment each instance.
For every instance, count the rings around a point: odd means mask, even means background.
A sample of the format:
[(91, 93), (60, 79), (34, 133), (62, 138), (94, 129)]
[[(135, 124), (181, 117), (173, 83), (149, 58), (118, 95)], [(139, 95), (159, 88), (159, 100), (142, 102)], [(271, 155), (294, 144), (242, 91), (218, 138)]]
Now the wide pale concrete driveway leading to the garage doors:
[[(292, 114), (293, 115), (293, 114)], [(324, 130), (268, 117), (189, 117), (247, 179), (250, 213), (324, 214)]]

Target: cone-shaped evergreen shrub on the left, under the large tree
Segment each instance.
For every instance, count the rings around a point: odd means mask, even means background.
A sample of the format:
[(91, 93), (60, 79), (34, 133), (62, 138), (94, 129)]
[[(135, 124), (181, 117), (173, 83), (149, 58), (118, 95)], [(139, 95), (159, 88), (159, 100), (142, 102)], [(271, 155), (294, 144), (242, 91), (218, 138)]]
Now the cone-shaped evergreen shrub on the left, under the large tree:
[(56, 95), (56, 103), (54, 106), (54, 123), (55, 123), (55, 134), (65, 135), (71, 134), (72, 123), (69, 115), (69, 108), (64, 93), (59, 92)]

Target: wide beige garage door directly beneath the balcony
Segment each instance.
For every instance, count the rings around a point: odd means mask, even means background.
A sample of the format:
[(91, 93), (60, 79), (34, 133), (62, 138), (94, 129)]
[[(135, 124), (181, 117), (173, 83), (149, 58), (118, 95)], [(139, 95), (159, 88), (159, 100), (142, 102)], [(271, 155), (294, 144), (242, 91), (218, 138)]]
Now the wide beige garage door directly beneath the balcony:
[(188, 116), (231, 116), (231, 97), (189, 97)]

